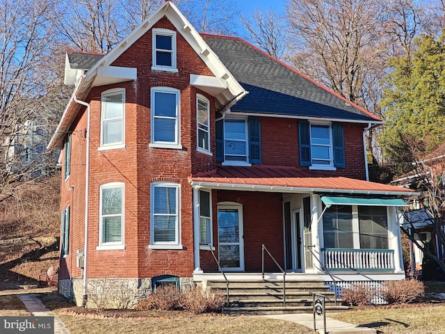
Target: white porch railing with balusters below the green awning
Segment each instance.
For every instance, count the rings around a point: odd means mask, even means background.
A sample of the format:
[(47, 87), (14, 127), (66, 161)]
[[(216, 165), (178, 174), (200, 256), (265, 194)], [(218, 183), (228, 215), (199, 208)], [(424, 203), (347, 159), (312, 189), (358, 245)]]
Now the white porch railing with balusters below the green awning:
[(328, 270), (394, 271), (392, 249), (324, 248), (321, 250)]

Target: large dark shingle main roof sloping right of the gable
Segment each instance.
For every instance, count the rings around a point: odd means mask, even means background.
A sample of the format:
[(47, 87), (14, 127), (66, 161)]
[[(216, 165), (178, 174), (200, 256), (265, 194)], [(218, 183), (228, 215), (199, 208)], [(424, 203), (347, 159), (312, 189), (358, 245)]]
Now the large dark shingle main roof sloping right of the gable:
[(234, 112), (378, 120), (240, 38), (213, 35), (202, 38), (249, 92), (232, 106)]

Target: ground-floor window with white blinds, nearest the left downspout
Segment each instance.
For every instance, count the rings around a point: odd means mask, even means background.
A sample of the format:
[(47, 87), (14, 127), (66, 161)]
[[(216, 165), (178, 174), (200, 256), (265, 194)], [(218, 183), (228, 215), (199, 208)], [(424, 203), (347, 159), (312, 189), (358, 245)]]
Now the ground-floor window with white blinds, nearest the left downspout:
[(99, 200), (98, 248), (121, 248), (119, 246), (124, 244), (124, 184), (102, 184)]

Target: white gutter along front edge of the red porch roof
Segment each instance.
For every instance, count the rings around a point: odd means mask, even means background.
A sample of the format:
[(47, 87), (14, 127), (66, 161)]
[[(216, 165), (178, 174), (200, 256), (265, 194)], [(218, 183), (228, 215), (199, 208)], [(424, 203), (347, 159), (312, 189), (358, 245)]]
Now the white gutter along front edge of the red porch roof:
[[(382, 196), (416, 196), (419, 193), (411, 191), (378, 191), (357, 189), (332, 189), (332, 188), (304, 188), (300, 186), (263, 186), (257, 184), (233, 184), (219, 182), (189, 181), (191, 186), (202, 186), (208, 189), (241, 190), (241, 191), (268, 191), (277, 193), (347, 193), (350, 195), (382, 195)], [(401, 187), (401, 189), (404, 189)]]

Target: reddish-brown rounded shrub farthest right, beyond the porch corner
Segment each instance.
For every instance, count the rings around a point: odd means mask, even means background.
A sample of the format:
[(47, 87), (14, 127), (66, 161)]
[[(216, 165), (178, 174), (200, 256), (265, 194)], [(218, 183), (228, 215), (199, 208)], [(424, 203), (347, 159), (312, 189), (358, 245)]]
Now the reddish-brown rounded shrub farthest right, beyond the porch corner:
[(389, 304), (421, 301), (425, 287), (419, 280), (393, 280), (385, 283), (382, 296)]

